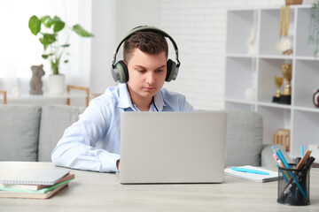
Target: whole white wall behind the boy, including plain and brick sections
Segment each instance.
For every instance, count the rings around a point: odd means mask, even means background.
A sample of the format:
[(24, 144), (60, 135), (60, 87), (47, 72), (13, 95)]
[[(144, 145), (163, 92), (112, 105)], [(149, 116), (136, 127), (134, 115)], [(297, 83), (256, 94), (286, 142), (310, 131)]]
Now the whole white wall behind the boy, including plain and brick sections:
[[(114, 85), (110, 67), (115, 43), (131, 28), (151, 25), (170, 34), (179, 49), (179, 75), (165, 87), (186, 95), (196, 109), (221, 110), (227, 9), (282, 4), (284, 0), (94, 0), (91, 93)], [(175, 60), (174, 50), (169, 57)]]

